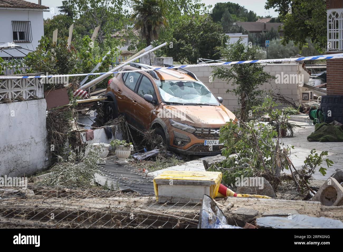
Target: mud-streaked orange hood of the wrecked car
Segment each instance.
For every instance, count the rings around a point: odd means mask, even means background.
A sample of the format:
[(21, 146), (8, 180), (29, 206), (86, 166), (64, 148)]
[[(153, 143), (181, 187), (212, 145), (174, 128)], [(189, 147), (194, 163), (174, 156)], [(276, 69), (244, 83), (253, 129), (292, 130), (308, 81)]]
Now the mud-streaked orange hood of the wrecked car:
[(165, 105), (171, 119), (194, 127), (219, 128), (236, 116), (225, 106)]

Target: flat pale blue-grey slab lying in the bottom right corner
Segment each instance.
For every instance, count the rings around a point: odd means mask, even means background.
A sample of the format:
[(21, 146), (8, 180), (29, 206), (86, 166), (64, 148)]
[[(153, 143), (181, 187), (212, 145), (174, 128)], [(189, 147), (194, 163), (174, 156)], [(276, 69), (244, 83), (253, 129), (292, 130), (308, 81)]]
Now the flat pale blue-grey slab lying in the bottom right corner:
[(310, 217), (296, 214), (289, 217), (261, 217), (256, 219), (258, 228), (343, 228), (340, 220), (324, 217)]

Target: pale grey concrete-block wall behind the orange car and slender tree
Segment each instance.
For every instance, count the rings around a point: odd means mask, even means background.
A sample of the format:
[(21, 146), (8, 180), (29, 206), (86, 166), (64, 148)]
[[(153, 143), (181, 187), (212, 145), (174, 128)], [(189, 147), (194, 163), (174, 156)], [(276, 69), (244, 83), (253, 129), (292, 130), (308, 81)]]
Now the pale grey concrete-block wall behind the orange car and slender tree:
[[(276, 74), (300, 74), (300, 64), (266, 64), (264, 67), (264, 71), (269, 72), (271, 75), (275, 76)], [(194, 67), (194, 68), (187, 68), (187, 70), (193, 72), (199, 80), (208, 86), (212, 93), (215, 96), (220, 96), (224, 99), (223, 105), (227, 107), (229, 110), (235, 110), (238, 106), (238, 100), (235, 94), (233, 93), (226, 93), (227, 89), (232, 90), (234, 87), (232, 86), (233, 81), (231, 80), (228, 84), (227, 82), (213, 78), (213, 82), (210, 82), (210, 76), (212, 75), (212, 67)], [(262, 89), (269, 90), (272, 89), (275, 93), (281, 93), (282, 95), (286, 95), (291, 97), (292, 99), (299, 101), (301, 87), (297, 83), (292, 84), (281, 84), (275, 83), (275, 80), (272, 80), (270, 83), (264, 83), (261, 85)]]

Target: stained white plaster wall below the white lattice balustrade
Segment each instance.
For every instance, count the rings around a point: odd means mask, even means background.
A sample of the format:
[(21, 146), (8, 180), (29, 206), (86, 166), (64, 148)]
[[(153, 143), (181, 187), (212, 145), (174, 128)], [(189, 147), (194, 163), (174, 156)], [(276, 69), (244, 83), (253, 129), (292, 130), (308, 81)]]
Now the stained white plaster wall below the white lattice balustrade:
[(47, 150), (45, 99), (0, 104), (0, 176), (44, 169)]

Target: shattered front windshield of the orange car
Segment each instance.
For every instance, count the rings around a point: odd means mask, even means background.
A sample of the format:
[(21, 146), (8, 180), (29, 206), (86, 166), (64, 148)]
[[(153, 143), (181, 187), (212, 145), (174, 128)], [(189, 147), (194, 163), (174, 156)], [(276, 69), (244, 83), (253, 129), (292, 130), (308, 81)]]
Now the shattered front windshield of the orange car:
[(201, 81), (156, 80), (155, 82), (162, 100), (167, 103), (220, 105), (215, 96)]

